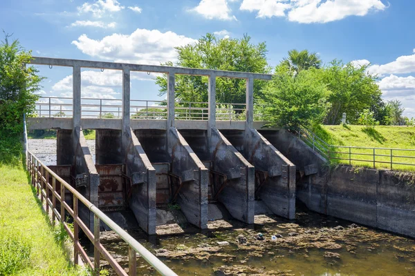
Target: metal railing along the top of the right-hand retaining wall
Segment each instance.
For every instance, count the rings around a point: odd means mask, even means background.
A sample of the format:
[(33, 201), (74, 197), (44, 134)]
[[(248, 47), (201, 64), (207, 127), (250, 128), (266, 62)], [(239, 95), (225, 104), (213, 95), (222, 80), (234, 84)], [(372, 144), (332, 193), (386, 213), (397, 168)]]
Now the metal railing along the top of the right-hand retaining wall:
[(302, 139), (315, 152), (328, 160), (348, 163), (350, 166), (352, 164), (369, 164), (373, 168), (387, 167), (391, 170), (399, 166), (415, 166), (415, 149), (333, 146), (304, 127), (299, 128), (296, 132), (299, 139)]

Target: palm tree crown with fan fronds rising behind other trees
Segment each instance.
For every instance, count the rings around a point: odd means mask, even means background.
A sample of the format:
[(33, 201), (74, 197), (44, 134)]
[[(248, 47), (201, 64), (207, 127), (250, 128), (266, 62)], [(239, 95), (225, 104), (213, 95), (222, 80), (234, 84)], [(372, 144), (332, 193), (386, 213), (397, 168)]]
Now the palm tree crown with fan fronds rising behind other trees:
[(308, 50), (289, 50), (288, 57), (284, 57), (282, 63), (295, 72), (295, 75), (301, 70), (309, 68), (320, 68), (322, 60), (316, 52), (308, 52)]

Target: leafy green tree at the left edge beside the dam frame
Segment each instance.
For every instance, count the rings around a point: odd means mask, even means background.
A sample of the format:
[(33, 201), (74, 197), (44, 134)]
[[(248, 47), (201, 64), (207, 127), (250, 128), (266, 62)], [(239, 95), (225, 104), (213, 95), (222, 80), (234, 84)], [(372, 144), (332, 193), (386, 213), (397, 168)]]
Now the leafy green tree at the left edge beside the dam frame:
[(33, 66), (24, 66), (30, 63), (31, 52), (9, 38), (6, 34), (0, 43), (0, 125), (6, 132), (17, 133), (23, 130), (23, 113), (35, 110), (35, 92), (43, 78)]

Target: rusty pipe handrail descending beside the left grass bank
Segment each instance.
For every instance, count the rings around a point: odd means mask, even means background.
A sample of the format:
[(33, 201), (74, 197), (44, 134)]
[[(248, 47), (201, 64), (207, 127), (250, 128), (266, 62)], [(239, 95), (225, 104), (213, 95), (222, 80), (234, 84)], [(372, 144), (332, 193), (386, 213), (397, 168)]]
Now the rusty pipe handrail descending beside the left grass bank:
[[(25, 124), (26, 126), (26, 124)], [(27, 144), (26, 144), (27, 145)], [(32, 185), (37, 190), (37, 195), (41, 197), (42, 203), (46, 201), (46, 213), (49, 209), (52, 212), (53, 223), (57, 218), (66, 229), (69, 237), (73, 240), (74, 262), (78, 263), (78, 257), (81, 257), (86, 264), (88, 264), (95, 272), (95, 275), (99, 275), (100, 270), (100, 255), (109, 262), (111, 267), (116, 271), (117, 275), (127, 276), (127, 273), (122, 269), (120, 264), (109, 254), (107, 249), (100, 243), (100, 221), (107, 224), (111, 230), (117, 233), (124, 242), (129, 245), (129, 275), (136, 276), (136, 253), (138, 253), (145, 261), (156, 269), (161, 275), (176, 275), (170, 268), (168, 268), (163, 262), (156, 256), (151, 254), (144, 246), (136, 241), (131, 235), (125, 232), (118, 224), (112, 221), (107, 215), (91, 204), (91, 202), (82, 196), (75, 188), (69, 185), (64, 179), (55, 174), (50, 168), (45, 166), (42, 161), (37, 159), (26, 146), (26, 166), (30, 177), (32, 179)], [(49, 183), (49, 178), (52, 177), (52, 185)], [(57, 192), (57, 184), (60, 184), (60, 193)], [(70, 192), (73, 195), (73, 207), (69, 206), (65, 202), (65, 193)], [(51, 199), (50, 199), (51, 197)], [(59, 204), (57, 204), (57, 201)], [(86, 208), (91, 210), (94, 214), (94, 230), (93, 233), (86, 224), (79, 217), (79, 204), (84, 204)], [(60, 206), (60, 213), (57, 209)], [(73, 231), (66, 223), (65, 214), (68, 213), (73, 218)], [(78, 233), (80, 228), (84, 231), (86, 237), (88, 237), (93, 243), (94, 247), (94, 262), (92, 263), (88, 255), (82, 248)]]

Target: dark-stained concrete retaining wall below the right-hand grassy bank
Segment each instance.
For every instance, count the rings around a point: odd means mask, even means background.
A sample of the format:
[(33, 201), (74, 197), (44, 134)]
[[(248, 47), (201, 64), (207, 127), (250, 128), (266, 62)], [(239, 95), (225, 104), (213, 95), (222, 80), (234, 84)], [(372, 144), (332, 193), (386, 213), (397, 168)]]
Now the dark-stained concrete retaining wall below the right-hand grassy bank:
[(399, 175), (402, 172), (335, 168), (326, 190), (327, 215), (415, 237), (415, 186)]

